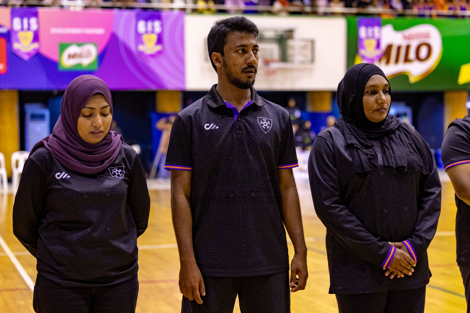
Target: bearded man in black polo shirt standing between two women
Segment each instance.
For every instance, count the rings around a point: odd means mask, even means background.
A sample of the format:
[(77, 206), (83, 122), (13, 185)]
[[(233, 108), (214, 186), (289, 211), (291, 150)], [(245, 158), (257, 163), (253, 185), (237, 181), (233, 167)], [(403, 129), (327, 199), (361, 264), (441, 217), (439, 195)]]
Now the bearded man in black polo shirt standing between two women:
[[(242, 312), (287, 313), (289, 287), (305, 289), (292, 125), (252, 87), (257, 36), (245, 17), (214, 24), (207, 46), (219, 83), (173, 123), (165, 168), (183, 313), (232, 313), (237, 295)], [(295, 251), (290, 275), (284, 225)]]

